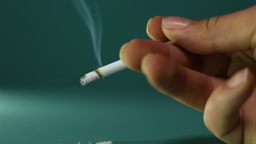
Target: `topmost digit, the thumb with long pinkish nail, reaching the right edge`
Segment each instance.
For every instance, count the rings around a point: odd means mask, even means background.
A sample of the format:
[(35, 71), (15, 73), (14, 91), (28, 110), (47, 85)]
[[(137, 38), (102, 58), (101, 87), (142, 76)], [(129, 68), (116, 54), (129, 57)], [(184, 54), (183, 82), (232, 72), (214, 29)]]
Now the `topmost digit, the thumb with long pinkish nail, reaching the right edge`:
[(165, 17), (162, 31), (177, 45), (197, 54), (246, 51), (256, 47), (255, 15), (256, 5), (206, 20)]

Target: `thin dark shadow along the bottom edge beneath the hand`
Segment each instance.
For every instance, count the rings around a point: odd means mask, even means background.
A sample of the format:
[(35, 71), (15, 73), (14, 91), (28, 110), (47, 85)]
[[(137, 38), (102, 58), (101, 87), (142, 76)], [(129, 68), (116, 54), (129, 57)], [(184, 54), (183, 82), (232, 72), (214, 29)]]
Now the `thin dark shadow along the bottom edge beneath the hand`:
[(189, 137), (177, 140), (163, 140), (163, 141), (123, 141), (116, 142), (117, 144), (224, 144), (216, 137)]

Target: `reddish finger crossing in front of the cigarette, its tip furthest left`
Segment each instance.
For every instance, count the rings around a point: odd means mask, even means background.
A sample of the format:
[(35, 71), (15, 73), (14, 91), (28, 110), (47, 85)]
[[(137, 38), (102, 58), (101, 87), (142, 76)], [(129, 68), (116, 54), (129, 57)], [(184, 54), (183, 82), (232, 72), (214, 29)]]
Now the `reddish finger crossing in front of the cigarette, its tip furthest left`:
[(175, 45), (142, 39), (125, 44), (120, 57), (130, 69), (141, 71), (141, 61), (147, 53), (159, 53), (184, 67), (214, 76), (225, 75), (230, 62), (227, 54), (199, 56)]

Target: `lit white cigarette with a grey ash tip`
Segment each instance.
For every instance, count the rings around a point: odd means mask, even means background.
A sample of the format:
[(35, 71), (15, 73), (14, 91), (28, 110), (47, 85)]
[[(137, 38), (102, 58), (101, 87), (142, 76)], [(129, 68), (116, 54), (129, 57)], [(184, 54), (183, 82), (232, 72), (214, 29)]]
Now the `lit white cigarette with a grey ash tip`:
[[(174, 44), (174, 43), (172, 41), (167, 41), (166, 44)], [(91, 71), (90, 73), (85, 74), (83, 77), (81, 77), (80, 79), (81, 85), (85, 86), (92, 81), (102, 79), (103, 77), (112, 75), (126, 68), (127, 66), (121, 60), (110, 63), (108, 65), (105, 65), (104, 67)]]

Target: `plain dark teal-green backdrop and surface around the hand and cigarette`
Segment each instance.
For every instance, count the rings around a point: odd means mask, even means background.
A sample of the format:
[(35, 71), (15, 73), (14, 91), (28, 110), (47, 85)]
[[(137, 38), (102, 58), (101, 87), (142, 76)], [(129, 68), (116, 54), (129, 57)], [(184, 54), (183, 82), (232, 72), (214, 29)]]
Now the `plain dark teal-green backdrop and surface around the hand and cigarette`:
[[(100, 0), (102, 63), (117, 61), (125, 42), (148, 39), (150, 17), (205, 19), (253, 4)], [(155, 91), (142, 74), (124, 70), (80, 86), (98, 64), (72, 1), (1, 1), (0, 16), (0, 143), (222, 143), (202, 113)]]

